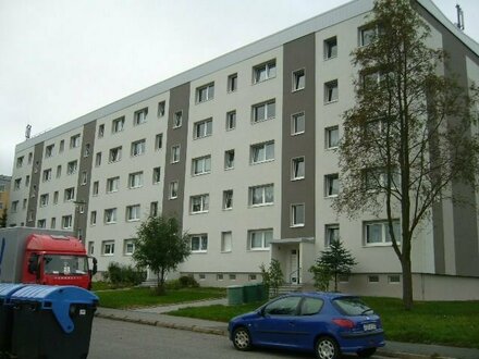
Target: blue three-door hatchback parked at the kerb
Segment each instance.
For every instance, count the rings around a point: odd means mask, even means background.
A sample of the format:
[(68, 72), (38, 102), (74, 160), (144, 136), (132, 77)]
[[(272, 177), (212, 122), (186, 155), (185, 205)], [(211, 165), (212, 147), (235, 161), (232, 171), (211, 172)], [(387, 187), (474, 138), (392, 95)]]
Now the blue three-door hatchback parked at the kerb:
[(228, 330), (238, 350), (269, 346), (315, 351), (320, 359), (346, 352), (367, 358), (384, 346), (379, 315), (358, 297), (337, 293), (281, 296), (233, 318)]

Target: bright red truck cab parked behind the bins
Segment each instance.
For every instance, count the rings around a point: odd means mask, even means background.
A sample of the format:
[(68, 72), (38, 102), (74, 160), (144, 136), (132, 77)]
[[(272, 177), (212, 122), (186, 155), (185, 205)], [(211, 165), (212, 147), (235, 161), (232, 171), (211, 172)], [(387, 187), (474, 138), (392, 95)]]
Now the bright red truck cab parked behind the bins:
[(75, 285), (91, 288), (88, 256), (82, 242), (70, 236), (30, 234), (26, 240), (22, 283)]

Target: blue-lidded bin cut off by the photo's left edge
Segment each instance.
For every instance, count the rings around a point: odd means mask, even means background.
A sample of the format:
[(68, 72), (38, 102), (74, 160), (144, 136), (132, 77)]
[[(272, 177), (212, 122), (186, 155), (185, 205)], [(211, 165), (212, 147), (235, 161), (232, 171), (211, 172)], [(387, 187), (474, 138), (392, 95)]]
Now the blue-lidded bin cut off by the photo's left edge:
[(24, 284), (0, 284), (0, 358), (10, 352), (12, 342), (13, 307), (10, 304), (10, 297), (24, 286)]

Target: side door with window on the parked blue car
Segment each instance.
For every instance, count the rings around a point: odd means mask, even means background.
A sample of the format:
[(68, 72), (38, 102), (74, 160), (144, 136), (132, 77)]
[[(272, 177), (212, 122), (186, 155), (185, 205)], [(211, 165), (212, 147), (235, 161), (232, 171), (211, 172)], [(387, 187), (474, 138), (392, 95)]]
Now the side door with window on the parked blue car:
[(255, 321), (255, 344), (273, 346), (295, 345), (295, 321), (299, 296), (282, 297), (267, 305)]

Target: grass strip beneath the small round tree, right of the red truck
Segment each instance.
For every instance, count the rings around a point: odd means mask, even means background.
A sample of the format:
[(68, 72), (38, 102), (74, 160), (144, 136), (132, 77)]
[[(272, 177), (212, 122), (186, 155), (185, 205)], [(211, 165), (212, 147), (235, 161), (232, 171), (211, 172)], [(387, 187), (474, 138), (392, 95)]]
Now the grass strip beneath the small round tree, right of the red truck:
[(97, 289), (95, 294), (100, 298), (100, 307), (126, 309), (148, 306), (161, 306), (195, 301), (202, 299), (216, 299), (226, 296), (224, 288), (183, 288), (167, 289), (167, 294), (158, 296), (150, 288), (125, 288), (105, 290)]

